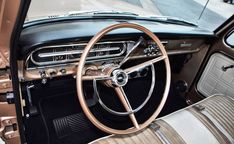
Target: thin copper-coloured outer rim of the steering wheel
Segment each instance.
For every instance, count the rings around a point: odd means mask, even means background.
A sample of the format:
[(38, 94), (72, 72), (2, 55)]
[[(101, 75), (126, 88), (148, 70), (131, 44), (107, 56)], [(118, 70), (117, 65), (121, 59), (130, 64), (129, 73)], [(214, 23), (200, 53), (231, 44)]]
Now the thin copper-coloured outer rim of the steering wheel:
[[(162, 55), (159, 58), (154, 58), (153, 60), (150, 60), (150, 61), (147, 61), (147, 62), (152, 64), (152, 63), (163, 60), (164, 63), (165, 63), (165, 68), (166, 68), (165, 89), (164, 89), (163, 97), (161, 99), (161, 102), (160, 102), (159, 106), (157, 107), (155, 112), (150, 116), (150, 118), (148, 120), (146, 120), (144, 123), (139, 124), (136, 127), (132, 127), (132, 128), (125, 129), (125, 130), (113, 129), (113, 128), (110, 128), (110, 127), (104, 125), (103, 123), (101, 123), (90, 111), (88, 105), (86, 104), (84, 93), (83, 93), (83, 80), (84, 80), (83, 68), (84, 68), (84, 65), (85, 65), (86, 57), (89, 54), (89, 51), (96, 44), (96, 42), (98, 42), (105, 34), (107, 34), (110, 31), (120, 29), (120, 28), (133, 28), (133, 29), (139, 30), (139, 31), (145, 33), (146, 35), (148, 35), (158, 45)], [(144, 66), (144, 64), (146, 64), (146, 63), (142, 63), (142, 66)], [(137, 66), (141, 66), (141, 64), (139, 64)], [(131, 69), (129, 69), (129, 70), (131, 70)], [(167, 99), (167, 96), (168, 96), (168, 93), (169, 93), (170, 82), (171, 82), (171, 69), (170, 69), (170, 63), (169, 63), (168, 55), (166, 53), (166, 50), (165, 50), (164, 46), (162, 45), (162, 43), (160, 42), (158, 37), (156, 35), (154, 35), (150, 30), (148, 30), (147, 28), (145, 28), (143, 26), (140, 26), (138, 24), (132, 24), (132, 23), (120, 23), (120, 24), (111, 25), (111, 26), (101, 30), (99, 33), (97, 33), (89, 41), (89, 43), (85, 47), (85, 49), (83, 51), (83, 54), (81, 55), (79, 65), (78, 65), (78, 68), (77, 68), (77, 73), (76, 73), (77, 96), (78, 96), (78, 99), (79, 99), (79, 102), (80, 102), (80, 105), (81, 105), (81, 108), (82, 108), (83, 112), (85, 113), (87, 118), (97, 128), (99, 128), (100, 130), (102, 130), (102, 131), (104, 131), (106, 133), (110, 133), (110, 134), (134, 133), (134, 132), (137, 132), (137, 131), (140, 131), (140, 130), (144, 129), (151, 122), (153, 122), (155, 120), (155, 118), (158, 116), (158, 114), (161, 112), (161, 110), (162, 110), (162, 108), (163, 108), (163, 106), (164, 106), (164, 104), (166, 102), (166, 99)], [(118, 92), (121, 92), (121, 91), (118, 89), (117, 93)]]

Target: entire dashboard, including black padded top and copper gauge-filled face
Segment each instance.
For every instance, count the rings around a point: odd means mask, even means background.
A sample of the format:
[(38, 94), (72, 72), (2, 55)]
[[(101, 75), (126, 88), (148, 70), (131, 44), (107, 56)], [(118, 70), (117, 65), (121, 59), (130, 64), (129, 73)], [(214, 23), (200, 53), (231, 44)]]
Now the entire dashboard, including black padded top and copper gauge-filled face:
[[(26, 27), (20, 37), (20, 81), (75, 75), (79, 58), (88, 41), (98, 31), (114, 23), (118, 21), (72, 21)], [(209, 45), (207, 41), (213, 38), (213, 33), (189, 26), (142, 21), (134, 23), (154, 32), (168, 55), (196, 53), (203, 46)], [(119, 63), (136, 45), (129, 61), (161, 55), (155, 42), (141, 32), (120, 29), (106, 35), (93, 46), (87, 57), (87, 65)]]

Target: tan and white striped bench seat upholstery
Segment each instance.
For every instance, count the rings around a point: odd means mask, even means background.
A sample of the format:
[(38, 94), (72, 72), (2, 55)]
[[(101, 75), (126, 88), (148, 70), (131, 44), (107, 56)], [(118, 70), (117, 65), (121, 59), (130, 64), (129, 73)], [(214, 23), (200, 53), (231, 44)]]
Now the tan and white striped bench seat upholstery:
[(155, 120), (129, 135), (111, 135), (92, 144), (234, 144), (234, 100), (208, 97), (185, 109)]

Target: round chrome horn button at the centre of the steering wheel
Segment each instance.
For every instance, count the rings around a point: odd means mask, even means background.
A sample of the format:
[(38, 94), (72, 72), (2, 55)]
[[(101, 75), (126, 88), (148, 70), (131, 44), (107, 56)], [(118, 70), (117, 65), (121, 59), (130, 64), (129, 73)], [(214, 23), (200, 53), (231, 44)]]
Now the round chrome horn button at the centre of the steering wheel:
[(111, 82), (113, 86), (125, 86), (128, 82), (128, 74), (121, 69), (115, 69), (112, 72)]

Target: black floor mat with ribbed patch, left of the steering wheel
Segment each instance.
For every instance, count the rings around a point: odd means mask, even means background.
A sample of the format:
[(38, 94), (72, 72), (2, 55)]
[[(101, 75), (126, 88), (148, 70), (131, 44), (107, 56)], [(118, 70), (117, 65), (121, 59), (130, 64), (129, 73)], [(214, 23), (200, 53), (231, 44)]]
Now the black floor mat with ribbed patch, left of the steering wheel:
[(40, 107), (52, 144), (82, 144), (106, 135), (84, 116), (74, 93), (43, 99)]

